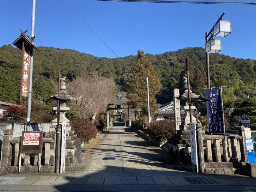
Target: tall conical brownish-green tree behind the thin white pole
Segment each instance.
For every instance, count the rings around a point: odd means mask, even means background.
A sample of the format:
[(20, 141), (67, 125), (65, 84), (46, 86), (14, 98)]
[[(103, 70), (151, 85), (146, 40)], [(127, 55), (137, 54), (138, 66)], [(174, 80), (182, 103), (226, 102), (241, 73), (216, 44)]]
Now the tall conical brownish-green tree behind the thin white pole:
[(149, 87), (150, 113), (155, 114), (158, 110), (155, 94), (160, 90), (160, 81), (154, 67), (148, 60), (143, 50), (138, 50), (138, 54), (133, 62), (132, 74), (127, 82), (127, 98), (130, 105), (139, 110), (140, 118), (147, 115), (147, 82)]

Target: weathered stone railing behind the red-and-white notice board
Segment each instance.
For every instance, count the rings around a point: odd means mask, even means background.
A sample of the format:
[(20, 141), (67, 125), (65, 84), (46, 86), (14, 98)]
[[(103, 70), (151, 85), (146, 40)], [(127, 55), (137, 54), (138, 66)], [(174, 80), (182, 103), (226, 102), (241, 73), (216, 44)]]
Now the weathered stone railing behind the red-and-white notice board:
[[(19, 161), (22, 170), (36, 171), (39, 165), (43, 172), (54, 171), (54, 132), (48, 132), (42, 139), (42, 155), (20, 154), (20, 137), (13, 138), (13, 130), (3, 131), (3, 141), (1, 150), (0, 171), (18, 171)], [(40, 158), (41, 157), (41, 158)]]

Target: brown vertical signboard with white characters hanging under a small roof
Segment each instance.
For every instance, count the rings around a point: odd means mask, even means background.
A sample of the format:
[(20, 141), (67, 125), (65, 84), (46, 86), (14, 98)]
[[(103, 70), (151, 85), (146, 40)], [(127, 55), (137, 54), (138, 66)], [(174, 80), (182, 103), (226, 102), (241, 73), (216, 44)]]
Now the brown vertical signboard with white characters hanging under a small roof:
[(30, 72), (30, 45), (25, 46), (23, 42), (20, 95), (24, 97), (29, 97), (29, 72)]

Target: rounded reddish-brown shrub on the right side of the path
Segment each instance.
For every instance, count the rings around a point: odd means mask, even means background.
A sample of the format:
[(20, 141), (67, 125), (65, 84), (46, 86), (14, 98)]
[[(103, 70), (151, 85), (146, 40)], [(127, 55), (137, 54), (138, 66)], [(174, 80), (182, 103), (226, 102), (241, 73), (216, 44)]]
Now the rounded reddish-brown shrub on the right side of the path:
[(170, 119), (152, 121), (146, 132), (158, 141), (170, 139), (175, 132), (174, 121)]

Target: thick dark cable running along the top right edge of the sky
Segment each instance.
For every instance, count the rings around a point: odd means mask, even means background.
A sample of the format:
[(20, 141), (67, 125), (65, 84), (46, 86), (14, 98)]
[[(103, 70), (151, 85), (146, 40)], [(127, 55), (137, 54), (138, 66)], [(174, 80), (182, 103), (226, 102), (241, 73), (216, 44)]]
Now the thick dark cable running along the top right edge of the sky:
[(136, 2), (136, 3), (187, 3), (187, 4), (256, 5), (256, 3), (253, 3), (253, 2), (236, 2), (236, 1), (168, 1), (168, 0), (91, 0), (91, 1), (119, 1), (119, 2)]

